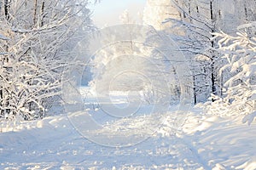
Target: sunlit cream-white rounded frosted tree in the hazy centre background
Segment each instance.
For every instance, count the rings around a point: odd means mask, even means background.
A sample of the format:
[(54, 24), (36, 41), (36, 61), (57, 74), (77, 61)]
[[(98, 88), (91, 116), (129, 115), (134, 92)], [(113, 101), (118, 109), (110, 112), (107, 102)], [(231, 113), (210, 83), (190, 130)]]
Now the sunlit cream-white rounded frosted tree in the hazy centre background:
[[(124, 22), (131, 22), (127, 13), (122, 15)], [(144, 88), (148, 72), (148, 48), (137, 37), (143, 37), (142, 26), (126, 23), (124, 26), (105, 28), (98, 39), (104, 48), (98, 50), (90, 65), (92, 81), (90, 86), (98, 94), (109, 94), (111, 91), (135, 92)], [(140, 32), (142, 31), (142, 32)], [(122, 40), (122, 41), (119, 41)], [(149, 82), (148, 82), (149, 83)]]

